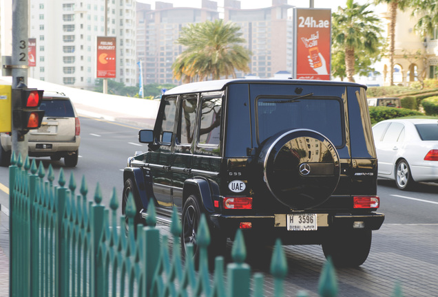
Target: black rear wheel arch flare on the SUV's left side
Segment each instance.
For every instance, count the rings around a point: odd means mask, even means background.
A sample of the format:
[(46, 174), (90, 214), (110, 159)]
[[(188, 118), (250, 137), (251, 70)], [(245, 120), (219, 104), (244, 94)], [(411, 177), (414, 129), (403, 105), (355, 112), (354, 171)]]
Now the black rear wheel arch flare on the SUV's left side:
[(199, 195), (200, 204), (207, 212), (214, 212), (213, 199), (219, 197), (219, 186), (215, 181), (204, 177), (187, 179), (183, 186), (183, 205), (187, 198), (192, 195)]

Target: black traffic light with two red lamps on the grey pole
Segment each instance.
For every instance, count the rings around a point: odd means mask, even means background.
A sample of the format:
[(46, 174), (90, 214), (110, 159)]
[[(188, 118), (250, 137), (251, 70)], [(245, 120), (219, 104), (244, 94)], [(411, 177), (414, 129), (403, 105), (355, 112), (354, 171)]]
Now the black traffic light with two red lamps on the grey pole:
[(43, 120), (44, 111), (38, 109), (43, 100), (43, 90), (17, 88), (12, 89), (14, 98), (14, 128), (21, 131), (38, 129)]

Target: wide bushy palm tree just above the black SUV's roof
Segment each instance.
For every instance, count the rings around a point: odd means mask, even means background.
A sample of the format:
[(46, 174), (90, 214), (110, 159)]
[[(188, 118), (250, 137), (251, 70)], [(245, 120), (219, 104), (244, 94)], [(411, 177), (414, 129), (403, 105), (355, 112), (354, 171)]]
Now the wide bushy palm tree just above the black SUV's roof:
[(222, 20), (187, 25), (177, 40), (187, 48), (172, 65), (174, 78), (187, 83), (235, 78), (236, 69), (248, 72), (251, 52), (241, 45), (245, 42), (241, 36), (238, 25)]

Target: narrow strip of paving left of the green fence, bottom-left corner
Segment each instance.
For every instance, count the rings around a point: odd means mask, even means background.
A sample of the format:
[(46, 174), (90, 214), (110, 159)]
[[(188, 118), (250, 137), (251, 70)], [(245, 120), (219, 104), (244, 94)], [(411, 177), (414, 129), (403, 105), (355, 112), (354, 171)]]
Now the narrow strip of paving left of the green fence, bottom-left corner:
[(9, 211), (0, 206), (0, 297), (9, 296)]

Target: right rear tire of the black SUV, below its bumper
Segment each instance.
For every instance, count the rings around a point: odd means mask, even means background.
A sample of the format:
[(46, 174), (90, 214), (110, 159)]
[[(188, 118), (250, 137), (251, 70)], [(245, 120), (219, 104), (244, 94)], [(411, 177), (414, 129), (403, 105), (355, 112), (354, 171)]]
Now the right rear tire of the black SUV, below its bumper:
[(322, 251), (326, 259), (331, 257), (336, 267), (357, 267), (368, 258), (371, 238), (371, 230), (329, 232), (322, 243)]

